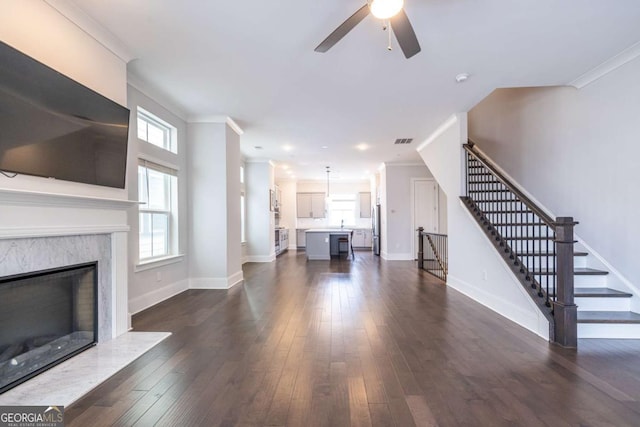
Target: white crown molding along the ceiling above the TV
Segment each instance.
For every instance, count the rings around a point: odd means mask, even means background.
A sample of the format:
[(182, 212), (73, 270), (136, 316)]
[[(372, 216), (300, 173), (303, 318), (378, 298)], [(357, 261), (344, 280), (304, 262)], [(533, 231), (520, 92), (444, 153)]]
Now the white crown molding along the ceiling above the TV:
[(45, 0), (45, 2), (125, 63), (134, 59), (131, 51), (118, 37), (77, 5), (68, 0)]

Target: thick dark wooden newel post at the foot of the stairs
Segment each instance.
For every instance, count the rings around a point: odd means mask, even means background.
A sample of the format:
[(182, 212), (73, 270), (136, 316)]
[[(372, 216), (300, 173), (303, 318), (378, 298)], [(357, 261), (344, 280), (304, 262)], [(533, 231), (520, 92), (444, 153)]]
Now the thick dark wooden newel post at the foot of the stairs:
[(578, 306), (574, 302), (573, 289), (573, 227), (571, 217), (556, 219), (557, 281), (556, 300), (553, 302), (555, 321), (554, 342), (563, 347), (578, 346)]

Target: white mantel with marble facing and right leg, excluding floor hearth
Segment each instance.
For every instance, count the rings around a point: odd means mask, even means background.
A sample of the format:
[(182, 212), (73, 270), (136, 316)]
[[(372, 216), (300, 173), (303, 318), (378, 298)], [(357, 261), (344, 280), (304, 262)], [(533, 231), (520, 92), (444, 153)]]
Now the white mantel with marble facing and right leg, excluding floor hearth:
[[(99, 337), (105, 341), (125, 333), (130, 327), (127, 209), (136, 204), (124, 199), (0, 189), (0, 276), (102, 258), (109, 268), (103, 274), (109, 283), (102, 285), (100, 296), (109, 311), (102, 316), (109, 333), (99, 333)], [(74, 255), (74, 251), (82, 253)]]

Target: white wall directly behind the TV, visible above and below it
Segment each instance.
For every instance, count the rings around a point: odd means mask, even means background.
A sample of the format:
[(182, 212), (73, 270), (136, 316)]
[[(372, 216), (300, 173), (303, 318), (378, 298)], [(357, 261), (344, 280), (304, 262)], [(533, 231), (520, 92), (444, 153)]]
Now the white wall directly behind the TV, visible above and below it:
[[(4, 0), (0, 40), (127, 105), (126, 62), (43, 1)], [(126, 190), (41, 177), (0, 176), (0, 188), (126, 199)]]

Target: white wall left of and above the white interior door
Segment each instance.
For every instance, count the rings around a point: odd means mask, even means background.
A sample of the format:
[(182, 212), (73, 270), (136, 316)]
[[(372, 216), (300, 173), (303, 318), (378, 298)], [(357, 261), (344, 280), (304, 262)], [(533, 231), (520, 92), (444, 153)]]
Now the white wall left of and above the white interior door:
[(412, 178), (432, 178), (425, 165), (385, 164), (386, 194), (382, 204), (382, 251), (387, 260), (413, 260)]

